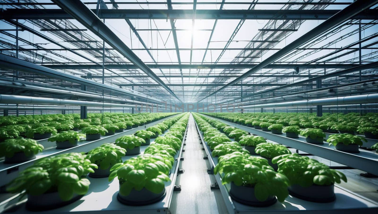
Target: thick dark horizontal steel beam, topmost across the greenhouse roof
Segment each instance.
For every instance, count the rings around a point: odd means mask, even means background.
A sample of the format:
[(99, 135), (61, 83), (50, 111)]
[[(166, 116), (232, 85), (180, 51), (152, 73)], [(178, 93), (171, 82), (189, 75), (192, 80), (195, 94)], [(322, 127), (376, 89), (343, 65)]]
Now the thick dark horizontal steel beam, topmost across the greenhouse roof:
[[(54, 1), (56, 2), (56, 1)], [(366, 1), (371, 2), (371, 1)], [(250, 4), (250, 3), (248, 3)], [(374, 4), (374, 3), (373, 3)], [(59, 4), (58, 4), (59, 5)], [(68, 5), (68, 3), (67, 3)], [(84, 3), (83, 3), (84, 5)], [(85, 6), (85, 5), (84, 5)], [(86, 9), (88, 10), (88, 8)], [(96, 9), (92, 9), (96, 13)], [(253, 20), (327, 20), (340, 10), (197, 10), (195, 19), (253, 19)], [(363, 11), (363, 10), (361, 10)], [(105, 19), (193, 19), (192, 9), (100, 9)], [(62, 9), (6, 9), (0, 19), (73, 19), (75, 15)], [(348, 19), (376, 20), (370, 9)]]

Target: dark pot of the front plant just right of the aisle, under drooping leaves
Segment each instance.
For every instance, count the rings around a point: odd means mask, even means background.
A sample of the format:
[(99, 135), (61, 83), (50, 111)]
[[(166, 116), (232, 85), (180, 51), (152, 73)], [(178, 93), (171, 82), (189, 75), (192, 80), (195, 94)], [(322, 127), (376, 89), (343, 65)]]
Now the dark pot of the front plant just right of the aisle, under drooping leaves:
[(270, 206), (277, 202), (276, 196), (269, 196), (268, 199), (260, 202), (255, 197), (254, 187), (236, 186), (234, 182), (231, 183), (229, 193), (235, 201), (249, 206)]

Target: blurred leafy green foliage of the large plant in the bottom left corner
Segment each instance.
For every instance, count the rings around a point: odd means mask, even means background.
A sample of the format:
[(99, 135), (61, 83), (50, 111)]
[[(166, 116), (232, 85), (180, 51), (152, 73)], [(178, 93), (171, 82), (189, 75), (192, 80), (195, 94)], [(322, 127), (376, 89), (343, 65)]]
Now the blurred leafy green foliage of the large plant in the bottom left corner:
[(68, 201), (74, 193), (84, 195), (88, 192), (90, 182), (84, 176), (94, 172), (93, 168), (97, 169), (97, 165), (81, 153), (45, 157), (20, 172), (6, 190), (11, 193), (25, 190), (32, 196), (57, 191), (62, 200)]

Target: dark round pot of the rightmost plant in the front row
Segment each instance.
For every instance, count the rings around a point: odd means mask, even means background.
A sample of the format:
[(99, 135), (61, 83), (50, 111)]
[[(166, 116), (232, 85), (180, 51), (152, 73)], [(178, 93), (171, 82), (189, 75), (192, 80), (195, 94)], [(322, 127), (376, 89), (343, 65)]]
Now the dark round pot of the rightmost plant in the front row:
[(291, 196), (310, 202), (327, 203), (336, 199), (334, 185), (320, 186), (313, 184), (303, 187), (294, 184), (288, 187), (288, 191)]

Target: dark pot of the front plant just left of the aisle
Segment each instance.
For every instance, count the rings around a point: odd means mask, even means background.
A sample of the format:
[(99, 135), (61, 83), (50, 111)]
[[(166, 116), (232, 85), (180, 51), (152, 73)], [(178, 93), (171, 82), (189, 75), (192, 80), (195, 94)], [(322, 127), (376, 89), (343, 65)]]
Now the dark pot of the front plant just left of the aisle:
[(128, 196), (122, 196), (118, 192), (117, 199), (119, 202), (125, 205), (143, 206), (143, 205), (159, 202), (161, 199), (164, 198), (165, 194), (166, 194), (165, 188), (163, 189), (163, 191), (159, 192), (158, 194), (148, 191), (146, 188), (143, 188), (140, 191), (137, 191), (136, 189), (133, 188)]

